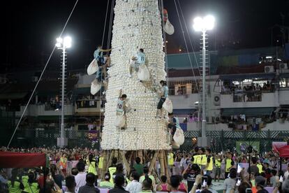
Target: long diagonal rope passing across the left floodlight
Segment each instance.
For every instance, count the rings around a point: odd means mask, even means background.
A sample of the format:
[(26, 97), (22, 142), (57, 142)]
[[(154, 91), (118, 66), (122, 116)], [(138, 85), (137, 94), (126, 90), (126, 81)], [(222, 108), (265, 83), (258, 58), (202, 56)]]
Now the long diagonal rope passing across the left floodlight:
[[(71, 13), (69, 14), (68, 19), (66, 20), (66, 23), (64, 24), (64, 28), (62, 29), (59, 37), (61, 37), (62, 34), (64, 33), (64, 30), (66, 29), (66, 25), (68, 24), (68, 21), (71, 19), (71, 15), (73, 14), (73, 11), (75, 10), (75, 7), (76, 7), (77, 3), (78, 3), (78, 0), (75, 1), (75, 4), (74, 4), (74, 6), (73, 6), (73, 9), (71, 10)], [(48, 59), (47, 59), (47, 62), (46, 62), (46, 64), (45, 64), (44, 68), (43, 68), (43, 71), (42, 71), (41, 74), (40, 74), (40, 77), (39, 77), (39, 79), (38, 79), (38, 81), (37, 81), (37, 83), (36, 83), (36, 85), (35, 85), (35, 87), (34, 87), (34, 90), (32, 91), (31, 96), (29, 97), (29, 100), (28, 100), (28, 102), (27, 102), (27, 104), (26, 104), (26, 106), (25, 106), (25, 108), (24, 108), (24, 110), (23, 110), (23, 113), (22, 113), (22, 115), (21, 115), (21, 117), (20, 117), (20, 120), (18, 121), (18, 123), (17, 123), (17, 125), (16, 125), (16, 127), (15, 127), (15, 130), (14, 130), (14, 132), (13, 132), (13, 135), (12, 135), (11, 138), (10, 138), (10, 141), (9, 141), (9, 143), (8, 143), (8, 145), (7, 145), (7, 148), (9, 148), (9, 145), (10, 145), (13, 137), (15, 136), (15, 133), (16, 133), (19, 125), (20, 125), (20, 122), (21, 122), (21, 120), (22, 120), (22, 118), (23, 118), (23, 116), (24, 116), (24, 114), (25, 114), (28, 106), (29, 106), (29, 103), (30, 103), (31, 99), (32, 99), (33, 96), (34, 96), (34, 93), (35, 93), (35, 91), (36, 91), (36, 89), (37, 89), (37, 87), (38, 87), (38, 84), (40, 83), (40, 81), (41, 81), (41, 79), (42, 79), (42, 76), (43, 76), (43, 74), (44, 74), (44, 72), (45, 72), (45, 69), (47, 68), (48, 63), (50, 62), (50, 59), (51, 59), (51, 57), (52, 57), (52, 55), (53, 55), (53, 53), (54, 53), (55, 48), (56, 48), (56, 45), (54, 45), (54, 48), (52, 49), (52, 52), (50, 53), (50, 56), (49, 56)], [(64, 108), (64, 107), (61, 107), (61, 108)]]

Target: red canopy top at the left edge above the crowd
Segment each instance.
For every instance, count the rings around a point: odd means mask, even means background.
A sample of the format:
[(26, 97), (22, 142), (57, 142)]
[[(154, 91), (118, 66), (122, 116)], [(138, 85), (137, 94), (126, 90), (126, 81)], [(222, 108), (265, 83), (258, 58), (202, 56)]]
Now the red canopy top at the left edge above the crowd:
[(0, 152), (0, 168), (31, 168), (45, 164), (45, 153)]

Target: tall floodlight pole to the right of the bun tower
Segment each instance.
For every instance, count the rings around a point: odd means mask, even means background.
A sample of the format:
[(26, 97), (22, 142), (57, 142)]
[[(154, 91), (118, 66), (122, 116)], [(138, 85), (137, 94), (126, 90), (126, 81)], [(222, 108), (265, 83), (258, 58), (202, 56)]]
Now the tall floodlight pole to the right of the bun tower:
[(215, 19), (212, 15), (206, 17), (195, 17), (193, 20), (193, 29), (202, 31), (202, 138), (200, 145), (207, 146), (206, 136), (206, 31), (214, 28)]

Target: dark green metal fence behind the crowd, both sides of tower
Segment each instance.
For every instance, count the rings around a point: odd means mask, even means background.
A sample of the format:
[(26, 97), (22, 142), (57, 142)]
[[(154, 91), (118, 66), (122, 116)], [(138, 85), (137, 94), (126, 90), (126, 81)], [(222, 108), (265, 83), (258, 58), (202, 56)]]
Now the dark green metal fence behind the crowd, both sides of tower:
[[(91, 141), (88, 138), (89, 131), (66, 131), (68, 137), (68, 147), (75, 146), (90, 147)], [(12, 146), (20, 147), (46, 147), (57, 145), (58, 130), (36, 131), (33, 129), (23, 129), (17, 131), (17, 136), (13, 139)], [(185, 142), (181, 145), (181, 150), (187, 152), (193, 150), (195, 143), (193, 139), (200, 136), (200, 131), (185, 131)], [(289, 131), (207, 131), (207, 137), (210, 139), (209, 146), (214, 152), (225, 150), (234, 151), (236, 141), (260, 142), (260, 152), (272, 150), (272, 141), (288, 141)], [(25, 139), (19, 139), (25, 138)]]

